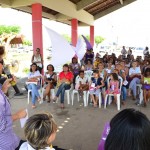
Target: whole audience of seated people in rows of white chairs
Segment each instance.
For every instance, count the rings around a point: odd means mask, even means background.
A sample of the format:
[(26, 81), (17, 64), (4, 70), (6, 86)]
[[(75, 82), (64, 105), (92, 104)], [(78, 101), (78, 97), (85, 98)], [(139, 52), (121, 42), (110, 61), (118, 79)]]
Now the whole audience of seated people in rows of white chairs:
[[(131, 59), (129, 59), (129, 57)], [(48, 97), (48, 101), (51, 101), (50, 90), (58, 87), (53, 101), (55, 102), (59, 95), (61, 108), (64, 108), (64, 94), (65, 90), (70, 89), (71, 84), (79, 91), (79, 94), (83, 94), (83, 91), (89, 91), (93, 106), (97, 107), (99, 93), (102, 92), (102, 98), (105, 99), (107, 94), (114, 95), (114, 102), (116, 102), (117, 94), (121, 94), (121, 102), (124, 105), (127, 96), (132, 96), (133, 100), (137, 99), (137, 84), (142, 84), (143, 89), (143, 106), (147, 106), (147, 101), (150, 97), (150, 57), (145, 56), (144, 60), (141, 57), (133, 59), (133, 55), (117, 58), (115, 54), (104, 55), (103, 58), (96, 56), (95, 60), (90, 57), (86, 57), (85, 64), (80, 65), (76, 57), (72, 58), (72, 62), (63, 65), (63, 71), (57, 74), (54, 72), (54, 66), (49, 64), (47, 66), (47, 72), (44, 75), (45, 92), (43, 99)], [(128, 61), (127, 61), (128, 59)], [(92, 76), (86, 76), (85, 72), (93, 71)], [(31, 70), (28, 76), (29, 81), (38, 80), (40, 73), (37, 70), (35, 63), (31, 65)], [(109, 78), (110, 82), (107, 83)], [(120, 80), (123, 80), (122, 88), (120, 89)], [(28, 89), (32, 90), (32, 107), (35, 108), (35, 101), (41, 100), (38, 94), (38, 86), (40, 86), (40, 80), (37, 85), (29, 84)], [(35, 88), (36, 87), (36, 88)], [(104, 88), (105, 87), (105, 88)], [(128, 90), (128, 92), (127, 92)], [(138, 103), (137, 103), (138, 104)]]

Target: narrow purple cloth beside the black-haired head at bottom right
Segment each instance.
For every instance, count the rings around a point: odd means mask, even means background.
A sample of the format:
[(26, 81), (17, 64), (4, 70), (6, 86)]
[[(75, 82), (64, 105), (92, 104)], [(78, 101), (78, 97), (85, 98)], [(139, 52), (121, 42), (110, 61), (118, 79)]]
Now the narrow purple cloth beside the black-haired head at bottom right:
[(105, 124), (105, 127), (104, 127), (104, 130), (103, 130), (103, 133), (102, 133), (102, 138), (99, 142), (99, 145), (98, 145), (98, 150), (104, 150), (105, 148), (105, 141), (106, 141), (106, 138), (109, 134), (109, 131), (110, 131), (110, 125), (109, 123), (107, 122)]

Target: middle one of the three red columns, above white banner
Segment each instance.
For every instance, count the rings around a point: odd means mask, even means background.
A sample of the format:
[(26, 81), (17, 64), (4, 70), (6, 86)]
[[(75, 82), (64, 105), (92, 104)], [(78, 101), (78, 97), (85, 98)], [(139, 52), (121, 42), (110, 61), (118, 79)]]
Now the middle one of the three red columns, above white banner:
[(71, 20), (71, 41), (73, 46), (76, 46), (77, 40), (78, 40), (78, 20), (72, 19)]

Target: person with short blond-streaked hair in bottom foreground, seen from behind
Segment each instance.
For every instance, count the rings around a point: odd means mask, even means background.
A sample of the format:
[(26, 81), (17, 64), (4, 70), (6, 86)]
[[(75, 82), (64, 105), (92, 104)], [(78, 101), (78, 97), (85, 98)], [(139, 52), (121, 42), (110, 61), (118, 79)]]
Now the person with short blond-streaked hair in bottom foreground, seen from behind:
[(24, 127), (27, 142), (20, 150), (55, 150), (52, 142), (55, 140), (57, 125), (51, 114), (35, 114), (31, 116)]

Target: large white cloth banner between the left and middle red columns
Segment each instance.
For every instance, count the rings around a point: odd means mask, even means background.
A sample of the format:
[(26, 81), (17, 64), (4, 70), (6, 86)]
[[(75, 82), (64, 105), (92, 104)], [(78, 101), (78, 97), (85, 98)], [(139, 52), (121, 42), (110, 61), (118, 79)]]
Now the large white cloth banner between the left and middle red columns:
[(57, 67), (71, 61), (72, 57), (75, 55), (72, 46), (57, 32), (47, 27), (45, 27), (45, 29), (52, 44), (51, 64)]

